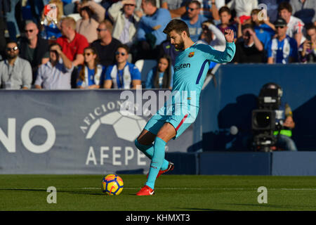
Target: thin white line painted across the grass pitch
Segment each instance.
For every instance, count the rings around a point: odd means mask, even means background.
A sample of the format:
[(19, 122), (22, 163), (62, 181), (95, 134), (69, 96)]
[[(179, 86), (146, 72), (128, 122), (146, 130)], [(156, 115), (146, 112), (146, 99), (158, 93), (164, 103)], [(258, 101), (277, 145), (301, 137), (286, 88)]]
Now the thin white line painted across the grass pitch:
[[(141, 187), (135, 188), (124, 188), (126, 190), (138, 190)], [(29, 188), (12, 188), (12, 187), (2, 187), (0, 190), (44, 190), (46, 191), (47, 188), (39, 188), (39, 187), (29, 187)], [(77, 190), (100, 190), (100, 188), (68, 188), (68, 187), (59, 187), (58, 189), (77, 189)], [(257, 190), (258, 188), (156, 188), (155, 190)], [(316, 188), (267, 188), (271, 191), (316, 191)]]

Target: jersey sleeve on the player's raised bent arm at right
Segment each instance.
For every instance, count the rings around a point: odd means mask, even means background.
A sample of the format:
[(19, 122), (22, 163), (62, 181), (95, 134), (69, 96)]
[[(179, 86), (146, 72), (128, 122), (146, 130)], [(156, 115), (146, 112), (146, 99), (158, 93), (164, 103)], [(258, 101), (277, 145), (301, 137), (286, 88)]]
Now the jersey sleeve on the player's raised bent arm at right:
[(236, 46), (235, 43), (226, 42), (225, 51), (217, 51), (212, 46), (206, 44), (199, 44), (199, 49), (204, 52), (204, 57), (207, 60), (215, 63), (229, 63), (235, 56)]

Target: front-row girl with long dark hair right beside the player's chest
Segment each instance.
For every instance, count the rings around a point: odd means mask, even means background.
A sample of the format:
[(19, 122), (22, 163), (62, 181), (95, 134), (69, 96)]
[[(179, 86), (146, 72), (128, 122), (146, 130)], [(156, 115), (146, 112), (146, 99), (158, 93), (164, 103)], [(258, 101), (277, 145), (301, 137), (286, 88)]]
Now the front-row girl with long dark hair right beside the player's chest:
[(172, 89), (173, 66), (169, 56), (162, 56), (158, 64), (147, 74), (146, 89)]

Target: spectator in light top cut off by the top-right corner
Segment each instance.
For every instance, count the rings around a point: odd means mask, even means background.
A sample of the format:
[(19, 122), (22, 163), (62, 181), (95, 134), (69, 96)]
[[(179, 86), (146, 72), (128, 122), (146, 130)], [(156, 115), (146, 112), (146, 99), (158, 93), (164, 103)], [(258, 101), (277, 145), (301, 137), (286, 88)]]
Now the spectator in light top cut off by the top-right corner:
[(303, 23), (316, 23), (316, 1), (315, 0), (290, 0), (292, 13), (300, 18)]

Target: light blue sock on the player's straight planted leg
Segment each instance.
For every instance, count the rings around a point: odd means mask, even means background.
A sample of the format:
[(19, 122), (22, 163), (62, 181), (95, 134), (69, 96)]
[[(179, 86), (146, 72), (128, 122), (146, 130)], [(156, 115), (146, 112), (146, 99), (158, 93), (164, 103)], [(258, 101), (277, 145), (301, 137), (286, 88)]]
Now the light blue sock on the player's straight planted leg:
[(154, 155), (152, 155), (150, 172), (146, 182), (146, 185), (152, 189), (154, 189), (154, 181), (156, 181), (159, 170), (162, 167), (162, 162), (164, 162), (164, 146), (166, 146), (166, 142), (164, 140), (159, 137), (154, 139)]

